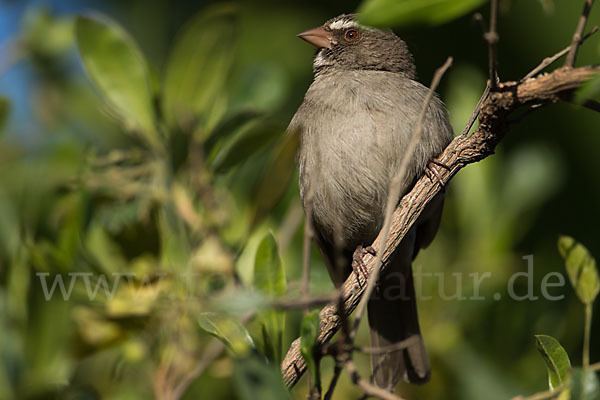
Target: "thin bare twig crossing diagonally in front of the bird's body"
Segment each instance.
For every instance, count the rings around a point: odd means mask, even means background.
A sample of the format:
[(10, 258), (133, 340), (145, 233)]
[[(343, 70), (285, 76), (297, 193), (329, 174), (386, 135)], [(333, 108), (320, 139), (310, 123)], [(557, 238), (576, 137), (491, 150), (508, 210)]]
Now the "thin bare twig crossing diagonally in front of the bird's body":
[[(402, 158), (402, 162), (400, 163), (400, 167), (398, 168), (398, 173), (392, 179), (392, 182), (390, 184), (390, 189), (389, 189), (388, 198), (387, 198), (387, 205), (386, 205), (386, 209), (385, 209), (385, 219), (383, 222), (383, 228), (381, 229), (381, 232), (383, 232), (383, 238), (384, 238), (384, 240), (382, 241), (383, 245), (385, 245), (385, 243), (387, 242), (387, 239), (390, 236), (391, 226), (392, 226), (392, 224), (391, 224), (392, 214), (394, 213), (394, 209), (396, 208), (396, 205), (398, 204), (398, 199), (400, 198), (400, 194), (401, 194), (400, 190), (402, 188), (402, 183), (404, 182), (406, 173), (408, 171), (408, 163), (412, 159), (412, 155), (415, 152), (417, 145), (421, 139), (421, 134), (423, 132), (423, 119), (425, 118), (425, 113), (427, 112), (427, 107), (429, 106), (429, 102), (431, 101), (431, 98), (433, 97), (435, 89), (439, 85), (440, 80), (442, 79), (442, 76), (446, 73), (446, 71), (448, 70), (448, 68), (450, 68), (451, 65), (452, 65), (452, 57), (448, 57), (448, 59), (446, 60), (444, 65), (442, 65), (440, 68), (438, 68), (435, 71), (435, 74), (433, 75), (433, 80), (431, 82), (431, 87), (429, 88), (429, 92), (427, 93), (427, 96), (425, 97), (425, 101), (423, 102), (423, 107), (421, 108), (421, 112), (417, 119), (417, 122), (415, 125), (415, 130), (413, 131), (410, 142), (406, 148), (406, 152), (404, 153), (404, 157)], [(371, 297), (371, 293), (373, 293), (373, 289), (375, 288), (375, 284), (377, 283), (377, 280), (379, 278), (379, 270), (381, 269), (381, 264), (382, 264), (381, 256), (383, 254), (383, 250), (384, 250), (383, 248), (377, 249), (375, 267), (371, 270), (371, 273), (370, 273), (368, 281), (367, 281), (367, 288), (365, 289), (365, 293), (357, 307), (355, 318), (354, 318), (354, 325), (352, 327), (351, 337), (354, 337), (354, 335), (358, 331), (358, 326), (359, 326), (362, 316), (364, 314), (367, 302), (369, 301), (369, 298)]]

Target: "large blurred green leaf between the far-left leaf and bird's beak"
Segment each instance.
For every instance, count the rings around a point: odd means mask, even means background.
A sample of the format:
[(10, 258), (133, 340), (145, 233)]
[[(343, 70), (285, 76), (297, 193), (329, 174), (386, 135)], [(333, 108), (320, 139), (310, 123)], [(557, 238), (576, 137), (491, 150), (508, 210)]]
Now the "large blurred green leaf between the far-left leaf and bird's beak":
[(169, 125), (188, 127), (223, 96), (238, 26), (237, 8), (225, 4), (197, 14), (183, 29), (165, 74), (164, 111)]

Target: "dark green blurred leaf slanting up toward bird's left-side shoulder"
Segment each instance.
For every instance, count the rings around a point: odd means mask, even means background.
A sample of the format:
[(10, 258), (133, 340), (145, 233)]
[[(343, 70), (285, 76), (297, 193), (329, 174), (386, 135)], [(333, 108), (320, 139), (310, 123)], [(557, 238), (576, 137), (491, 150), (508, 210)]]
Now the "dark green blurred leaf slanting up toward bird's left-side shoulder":
[(214, 153), (211, 166), (219, 173), (245, 161), (269, 143), (283, 129), (271, 122), (253, 121), (240, 129)]

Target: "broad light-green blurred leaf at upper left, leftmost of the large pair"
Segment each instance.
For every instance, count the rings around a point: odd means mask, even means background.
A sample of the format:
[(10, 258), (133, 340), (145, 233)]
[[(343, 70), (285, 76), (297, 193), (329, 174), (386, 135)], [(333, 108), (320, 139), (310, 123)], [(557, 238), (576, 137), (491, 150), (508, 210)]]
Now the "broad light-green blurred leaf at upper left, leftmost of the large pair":
[(106, 17), (77, 17), (75, 33), (83, 65), (118, 119), (157, 148), (150, 72), (135, 41)]

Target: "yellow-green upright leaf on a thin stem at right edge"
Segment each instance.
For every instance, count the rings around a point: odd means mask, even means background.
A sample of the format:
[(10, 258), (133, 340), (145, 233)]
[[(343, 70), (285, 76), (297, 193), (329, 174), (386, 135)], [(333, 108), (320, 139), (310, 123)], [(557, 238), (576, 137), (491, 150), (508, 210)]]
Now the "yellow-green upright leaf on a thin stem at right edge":
[(569, 236), (558, 239), (558, 251), (565, 259), (567, 274), (577, 297), (582, 303), (591, 304), (600, 291), (596, 260), (588, 249)]

